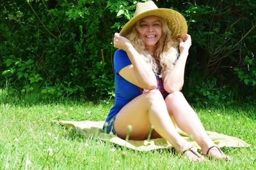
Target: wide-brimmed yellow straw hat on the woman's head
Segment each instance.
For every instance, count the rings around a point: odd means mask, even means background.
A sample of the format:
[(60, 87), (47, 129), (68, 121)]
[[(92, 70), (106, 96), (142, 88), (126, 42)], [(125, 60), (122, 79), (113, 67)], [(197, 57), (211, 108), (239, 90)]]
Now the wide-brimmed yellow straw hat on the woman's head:
[(148, 16), (157, 16), (163, 18), (168, 24), (172, 37), (185, 38), (188, 32), (188, 25), (185, 18), (177, 11), (167, 8), (157, 8), (153, 1), (147, 1), (146, 3), (138, 3), (133, 18), (127, 22), (120, 31), (121, 36), (126, 36), (132, 29), (132, 27), (141, 20)]

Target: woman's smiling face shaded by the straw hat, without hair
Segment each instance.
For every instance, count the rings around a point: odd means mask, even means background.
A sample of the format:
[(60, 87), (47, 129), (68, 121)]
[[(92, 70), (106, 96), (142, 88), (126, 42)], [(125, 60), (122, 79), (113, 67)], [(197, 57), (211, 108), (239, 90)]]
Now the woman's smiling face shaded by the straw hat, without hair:
[(139, 23), (139, 36), (147, 48), (154, 48), (162, 34), (162, 25), (159, 17), (149, 16)]

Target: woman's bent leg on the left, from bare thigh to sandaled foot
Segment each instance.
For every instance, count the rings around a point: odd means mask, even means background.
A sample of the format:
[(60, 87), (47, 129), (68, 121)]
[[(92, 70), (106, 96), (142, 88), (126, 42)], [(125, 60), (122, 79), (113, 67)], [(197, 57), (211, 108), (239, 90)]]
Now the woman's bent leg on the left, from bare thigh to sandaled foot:
[[(159, 90), (150, 90), (126, 104), (116, 116), (114, 125), (116, 134), (123, 139), (127, 135), (127, 125), (132, 126), (129, 139), (136, 140), (147, 139), (150, 126), (154, 125), (154, 129), (172, 143), (177, 152), (182, 153), (190, 146), (188, 141), (182, 138), (173, 126)], [(186, 154), (188, 154), (189, 159), (201, 160), (193, 153), (188, 152)]]

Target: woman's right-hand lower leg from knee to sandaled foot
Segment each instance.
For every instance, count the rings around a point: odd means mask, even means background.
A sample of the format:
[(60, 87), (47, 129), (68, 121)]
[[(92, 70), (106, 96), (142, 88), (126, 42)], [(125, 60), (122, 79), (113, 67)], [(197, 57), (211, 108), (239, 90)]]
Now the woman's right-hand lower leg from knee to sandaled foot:
[[(166, 99), (168, 113), (173, 115), (178, 127), (182, 131), (193, 136), (193, 139), (202, 148), (202, 153), (206, 153), (215, 144), (207, 135), (202, 122), (199, 120), (195, 111), (191, 108), (181, 92), (173, 92)], [(217, 159), (223, 159), (226, 155), (221, 154), (217, 148), (212, 148), (209, 155)]]

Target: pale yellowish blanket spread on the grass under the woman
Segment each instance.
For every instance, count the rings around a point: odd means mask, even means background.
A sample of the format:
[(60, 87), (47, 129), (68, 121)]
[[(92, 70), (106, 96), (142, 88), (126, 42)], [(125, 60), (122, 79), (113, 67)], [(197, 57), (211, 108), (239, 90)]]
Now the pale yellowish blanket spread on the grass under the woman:
[[(120, 146), (125, 146), (127, 148), (131, 148), (134, 150), (139, 151), (150, 151), (150, 150), (156, 150), (160, 148), (173, 148), (172, 144), (168, 143), (166, 139), (164, 138), (158, 138), (158, 139), (148, 139), (144, 141), (134, 141), (129, 140), (125, 141), (124, 139), (118, 138), (118, 136), (115, 136), (113, 134), (106, 134), (103, 132), (102, 127), (104, 125), (104, 121), (100, 122), (93, 122), (90, 120), (85, 121), (61, 121), (61, 125), (64, 125), (67, 128), (74, 128), (76, 131), (81, 134), (82, 136), (90, 137), (90, 136), (97, 136), (99, 139), (104, 141), (109, 141), (111, 143), (115, 143)], [(196, 148), (200, 148), (193, 139), (189, 138), (189, 135), (185, 132), (182, 132), (179, 128), (177, 128), (177, 131), (179, 134), (186, 140), (188, 140), (191, 145), (195, 146)], [(223, 146), (226, 147), (249, 147), (250, 145), (246, 143), (245, 141), (228, 136), (225, 134), (219, 134), (217, 132), (210, 132), (207, 131), (207, 134), (209, 137), (214, 141), (216, 145), (218, 145), (220, 148)]]

